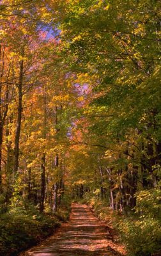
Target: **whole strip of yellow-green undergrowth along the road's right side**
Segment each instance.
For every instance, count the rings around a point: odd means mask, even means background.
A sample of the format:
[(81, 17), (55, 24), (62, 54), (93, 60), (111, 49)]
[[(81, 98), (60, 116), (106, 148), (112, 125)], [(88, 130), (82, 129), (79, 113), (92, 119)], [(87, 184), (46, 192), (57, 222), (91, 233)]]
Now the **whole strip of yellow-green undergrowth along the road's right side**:
[(107, 221), (107, 225), (118, 232), (119, 240), (125, 244), (128, 256), (161, 255), (160, 185), (140, 191), (135, 196), (137, 205), (128, 214), (112, 212), (107, 199), (101, 200), (89, 193), (79, 202), (90, 205), (100, 220)]

